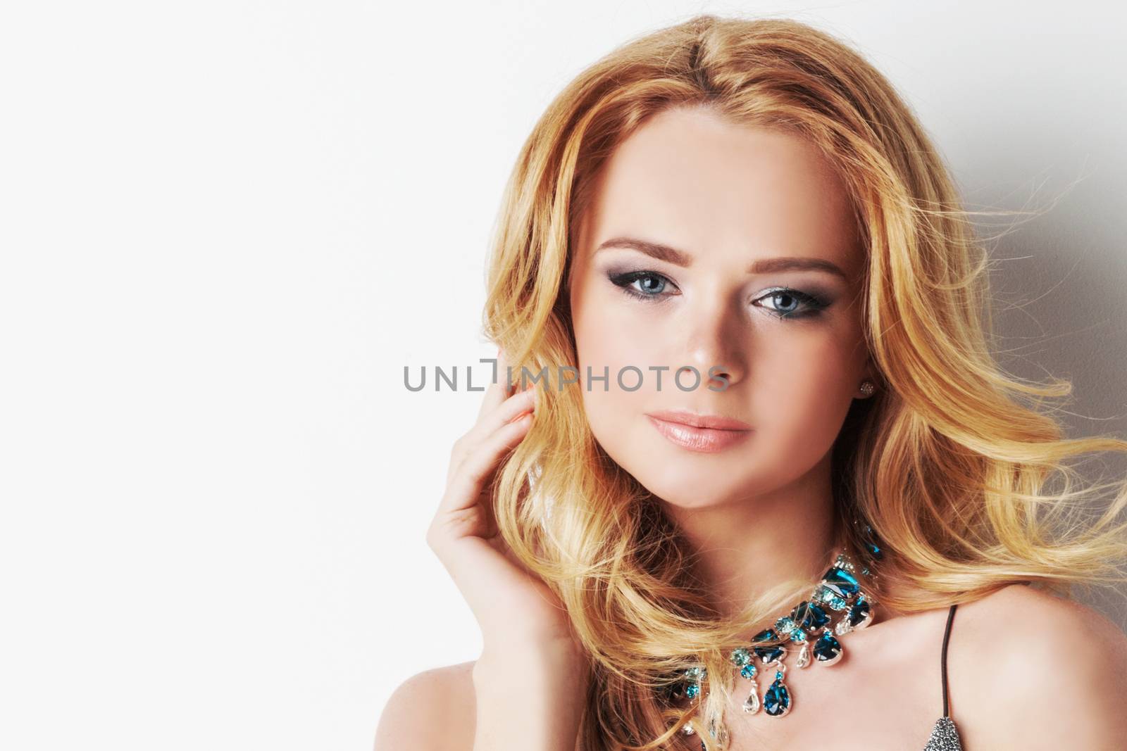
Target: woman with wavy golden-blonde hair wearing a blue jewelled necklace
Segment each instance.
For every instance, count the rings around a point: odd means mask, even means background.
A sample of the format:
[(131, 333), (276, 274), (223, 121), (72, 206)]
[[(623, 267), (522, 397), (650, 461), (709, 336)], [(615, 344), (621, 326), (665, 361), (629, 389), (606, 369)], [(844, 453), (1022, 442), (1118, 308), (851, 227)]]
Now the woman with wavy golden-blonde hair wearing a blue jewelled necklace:
[(861, 56), (636, 39), (500, 218), (497, 383), (427, 531), (483, 650), (406, 681), (379, 751), (1127, 748), (1127, 638), (1068, 599), (1127, 560), (1127, 491), (1068, 459), (1127, 441), (992, 359), (969, 216)]

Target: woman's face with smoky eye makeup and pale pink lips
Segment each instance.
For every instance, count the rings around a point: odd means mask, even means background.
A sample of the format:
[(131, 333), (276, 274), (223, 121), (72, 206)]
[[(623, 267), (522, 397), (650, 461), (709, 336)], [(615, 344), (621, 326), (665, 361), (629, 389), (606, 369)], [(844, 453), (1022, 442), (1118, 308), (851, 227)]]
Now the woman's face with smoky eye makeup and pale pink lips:
[[(663, 111), (604, 164), (574, 251), (570, 387), (611, 458), (683, 508), (825, 468), (871, 370), (857, 227), (814, 146), (706, 109)], [(684, 367), (699, 382), (685, 370), (678, 386)], [(668, 410), (748, 429), (651, 417)]]

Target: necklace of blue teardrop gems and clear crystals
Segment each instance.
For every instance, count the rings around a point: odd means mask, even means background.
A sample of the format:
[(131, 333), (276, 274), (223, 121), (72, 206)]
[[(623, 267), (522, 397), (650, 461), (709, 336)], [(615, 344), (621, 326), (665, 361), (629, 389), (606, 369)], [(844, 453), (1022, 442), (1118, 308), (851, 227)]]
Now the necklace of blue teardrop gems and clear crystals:
[[(743, 678), (752, 682), (751, 692), (744, 701), (744, 712), (756, 714), (762, 708), (772, 717), (783, 717), (793, 707), (793, 694), (784, 680), (784, 660), (789, 653), (786, 643), (789, 642), (791, 649), (799, 647), (796, 668), (806, 668), (811, 662), (833, 665), (845, 653), (845, 647), (836, 637), (864, 628), (872, 622), (875, 601), (861, 588), (861, 579), (876, 580), (877, 576), (870, 572), (869, 566), (880, 561), (884, 554), (873, 542), (872, 528), (866, 526), (864, 533), (868, 554), (866, 562), (858, 563), (844, 549), (837, 551), (833, 565), (814, 587), (808, 599), (796, 605), (790, 615), (775, 620), (773, 627), (764, 628), (753, 636), (752, 644), (747, 647), (740, 646), (731, 651), (730, 662)], [(818, 629), (822, 633), (816, 636)], [(774, 680), (763, 692), (762, 700), (756, 680), (758, 669), (753, 658), (758, 659), (764, 668), (773, 668), (775, 671)], [(703, 665), (694, 665), (682, 670), (681, 674), (683, 680), (674, 686), (673, 697), (699, 697), (708, 670)], [(682, 732), (692, 735), (695, 731), (691, 723), (686, 723)], [(716, 735), (715, 726), (710, 727), (710, 732)], [(701, 749), (704, 749), (703, 741)]]

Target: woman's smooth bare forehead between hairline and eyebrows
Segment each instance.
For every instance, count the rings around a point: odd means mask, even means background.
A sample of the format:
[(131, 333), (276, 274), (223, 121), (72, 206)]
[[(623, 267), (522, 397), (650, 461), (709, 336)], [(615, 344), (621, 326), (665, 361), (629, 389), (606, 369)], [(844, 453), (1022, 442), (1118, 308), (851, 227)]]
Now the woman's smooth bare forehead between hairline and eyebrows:
[(709, 110), (660, 113), (600, 170), (580, 222), (589, 257), (611, 238), (645, 238), (740, 263), (817, 257), (860, 272), (844, 185), (822, 153), (781, 131)]

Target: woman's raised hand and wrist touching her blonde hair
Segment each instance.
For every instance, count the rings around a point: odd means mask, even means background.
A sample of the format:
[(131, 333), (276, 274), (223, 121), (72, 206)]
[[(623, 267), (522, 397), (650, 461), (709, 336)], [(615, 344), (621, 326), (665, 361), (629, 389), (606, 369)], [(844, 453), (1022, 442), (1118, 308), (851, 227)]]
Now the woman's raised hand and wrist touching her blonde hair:
[(512, 556), (497, 531), (489, 486), (500, 458), (532, 426), (535, 384), (509, 394), (504, 352), (477, 422), (454, 441), (446, 491), (426, 540), (450, 572), (481, 627), (485, 653), (579, 654), (567, 611), (552, 591)]

